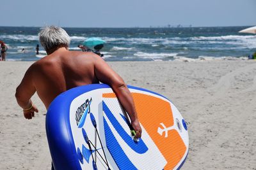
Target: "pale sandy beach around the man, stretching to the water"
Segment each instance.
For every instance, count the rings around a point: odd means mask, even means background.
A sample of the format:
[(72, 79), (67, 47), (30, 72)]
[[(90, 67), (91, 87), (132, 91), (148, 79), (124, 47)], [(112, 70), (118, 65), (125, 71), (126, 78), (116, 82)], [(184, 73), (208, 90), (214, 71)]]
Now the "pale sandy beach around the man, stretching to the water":
[[(26, 120), (15, 89), (33, 62), (0, 62), (0, 169), (51, 169), (44, 105)], [(129, 85), (168, 97), (188, 122), (182, 169), (256, 169), (256, 61), (108, 62)]]

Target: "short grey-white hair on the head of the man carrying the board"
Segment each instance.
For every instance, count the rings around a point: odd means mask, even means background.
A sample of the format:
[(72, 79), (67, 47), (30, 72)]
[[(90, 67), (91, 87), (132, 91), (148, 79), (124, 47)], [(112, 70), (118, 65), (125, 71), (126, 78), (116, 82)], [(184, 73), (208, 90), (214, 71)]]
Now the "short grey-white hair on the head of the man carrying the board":
[(70, 37), (67, 32), (61, 27), (54, 25), (41, 28), (38, 36), (46, 52), (52, 48), (68, 46), (70, 44)]

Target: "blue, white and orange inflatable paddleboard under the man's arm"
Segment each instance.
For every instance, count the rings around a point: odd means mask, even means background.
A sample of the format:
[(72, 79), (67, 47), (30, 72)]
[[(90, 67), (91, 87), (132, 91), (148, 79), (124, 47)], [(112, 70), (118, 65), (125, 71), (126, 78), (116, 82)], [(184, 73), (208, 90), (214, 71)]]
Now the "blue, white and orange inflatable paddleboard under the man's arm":
[(188, 127), (174, 104), (128, 86), (142, 128), (134, 139), (127, 113), (105, 84), (76, 87), (52, 101), (46, 132), (55, 169), (179, 169)]

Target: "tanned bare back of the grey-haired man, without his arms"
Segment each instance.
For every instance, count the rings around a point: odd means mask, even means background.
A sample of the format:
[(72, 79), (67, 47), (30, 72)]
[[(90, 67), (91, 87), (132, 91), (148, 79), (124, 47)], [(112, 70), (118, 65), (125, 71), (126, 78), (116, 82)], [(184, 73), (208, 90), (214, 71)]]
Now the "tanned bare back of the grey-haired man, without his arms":
[(99, 83), (95, 74), (95, 62), (101, 59), (90, 52), (70, 52), (58, 49), (31, 66), (31, 83), (48, 108), (52, 100), (68, 89)]

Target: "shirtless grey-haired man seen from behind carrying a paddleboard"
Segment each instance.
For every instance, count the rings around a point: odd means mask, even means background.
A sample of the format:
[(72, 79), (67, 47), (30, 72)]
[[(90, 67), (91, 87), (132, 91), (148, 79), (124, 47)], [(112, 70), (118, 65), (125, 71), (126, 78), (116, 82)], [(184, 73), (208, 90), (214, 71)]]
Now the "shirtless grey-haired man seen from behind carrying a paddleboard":
[(38, 113), (31, 101), (35, 92), (48, 110), (53, 99), (62, 92), (100, 81), (113, 89), (131, 118), (136, 138), (140, 138), (140, 123), (124, 80), (99, 55), (92, 52), (68, 51), (70, 37), (60, 27), (45, 27), (38, 35), (47, 56), (28, 68), (15, 94), (24, 117), (31, 119), (35, 112)]

